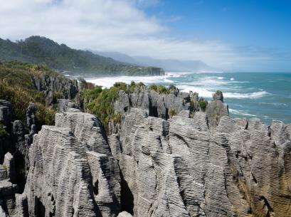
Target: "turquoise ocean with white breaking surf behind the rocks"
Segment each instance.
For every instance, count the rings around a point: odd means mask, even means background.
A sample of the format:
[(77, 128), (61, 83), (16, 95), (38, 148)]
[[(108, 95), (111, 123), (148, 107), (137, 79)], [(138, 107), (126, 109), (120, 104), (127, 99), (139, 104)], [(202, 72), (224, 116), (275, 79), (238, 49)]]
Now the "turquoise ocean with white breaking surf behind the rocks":
[(183, 92), (198, 92), (212, 99), (221, 90), (231, 117), (258, 117), (270, 125), (272, 120), (291, 123), (291, 73), (177, 73), (164, 76), (117, 76), (88, 78), (88, 82), (110, 88), (115, 82), (142, 82), (146, 85), (176, 85)]

